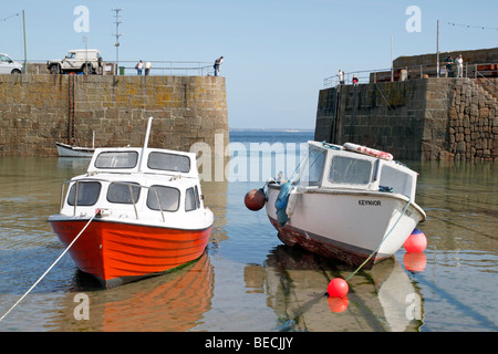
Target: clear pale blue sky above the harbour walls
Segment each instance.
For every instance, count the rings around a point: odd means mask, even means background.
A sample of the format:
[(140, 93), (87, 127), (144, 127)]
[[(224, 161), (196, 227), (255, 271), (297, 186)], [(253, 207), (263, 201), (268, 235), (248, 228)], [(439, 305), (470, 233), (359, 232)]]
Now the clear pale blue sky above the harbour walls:
[[(86, 28), (79, 6), (87, 9)], [(84, 48), (83, 37), (115, 61), (115, 8), (123, 9), (120, 62), (225, 58), (231, 128), (314, 129), (325, 77), (388, 69), (391, 55), (434, 53), (437, 20), (439, 51), (498, 45), (491, 0), (15, 0), (0, 8), (0, 52), (23, 61), (15, 14), (24, 10), (28, 61), (62, 59)]]

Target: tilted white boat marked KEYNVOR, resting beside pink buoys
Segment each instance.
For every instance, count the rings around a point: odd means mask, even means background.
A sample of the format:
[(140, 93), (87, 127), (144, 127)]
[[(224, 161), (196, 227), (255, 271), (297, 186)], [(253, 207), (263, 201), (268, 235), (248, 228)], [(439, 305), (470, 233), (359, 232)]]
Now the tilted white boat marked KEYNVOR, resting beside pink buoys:
[(354, 266), (369, 260), (365, 268), (392, 257), (426, 217), (415, 202), (417, 173), (392, 158), (350, 143), (309, 142), (298, 175), (267, 184), (280, 240)]

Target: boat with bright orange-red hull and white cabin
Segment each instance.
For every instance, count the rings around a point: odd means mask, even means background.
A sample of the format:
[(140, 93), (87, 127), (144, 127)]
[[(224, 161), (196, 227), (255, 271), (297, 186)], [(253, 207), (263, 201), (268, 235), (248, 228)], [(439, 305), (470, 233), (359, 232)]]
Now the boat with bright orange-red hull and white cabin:
[(76, 267), (105, 288), (200, 258), (212, 228), (194, 153), (96, 148), (85, 175), (65, 181), (49, 222)]

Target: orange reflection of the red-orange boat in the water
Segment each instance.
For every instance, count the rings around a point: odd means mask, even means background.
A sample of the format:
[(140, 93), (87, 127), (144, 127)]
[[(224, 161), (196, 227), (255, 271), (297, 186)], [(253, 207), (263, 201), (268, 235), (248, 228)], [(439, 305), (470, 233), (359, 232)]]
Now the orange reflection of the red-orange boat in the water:
[(63, 310), (51, 319), (58, 324), (56, 331), (188, 331), (211, 309), (214, 269), (209, 256), (204, 253), (172, 273), (107, 291), (89, 291), (92, 283), (100, 289), (92, 277), (79, 271), (74, 287), (89, 296), (89, 320), (74, 320), (73, 298), (79, 292), (69, 292)]

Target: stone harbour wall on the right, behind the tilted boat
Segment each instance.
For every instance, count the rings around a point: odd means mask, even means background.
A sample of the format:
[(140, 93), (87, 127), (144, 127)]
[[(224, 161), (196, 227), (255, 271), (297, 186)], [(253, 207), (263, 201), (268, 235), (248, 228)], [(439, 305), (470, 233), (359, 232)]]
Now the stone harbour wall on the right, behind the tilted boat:
[(497, 84), (440, 77), (322, 90), (315, 139), (366, 145), (396, 159), (498, 160)]

